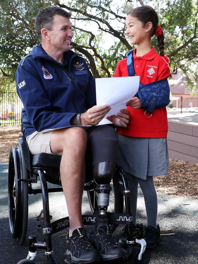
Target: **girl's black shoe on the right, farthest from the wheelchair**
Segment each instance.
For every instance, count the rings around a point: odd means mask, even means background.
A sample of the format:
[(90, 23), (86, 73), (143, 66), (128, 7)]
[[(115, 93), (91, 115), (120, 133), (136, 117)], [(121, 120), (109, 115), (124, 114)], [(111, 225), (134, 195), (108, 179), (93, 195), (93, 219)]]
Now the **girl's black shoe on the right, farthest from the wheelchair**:
[(151, 226), (147, 226), (143, 238), (147, 242), (147, 248), (154, 248), (158, 242), (160, 242), (160, 226), (157, 225), (157, 229)]

